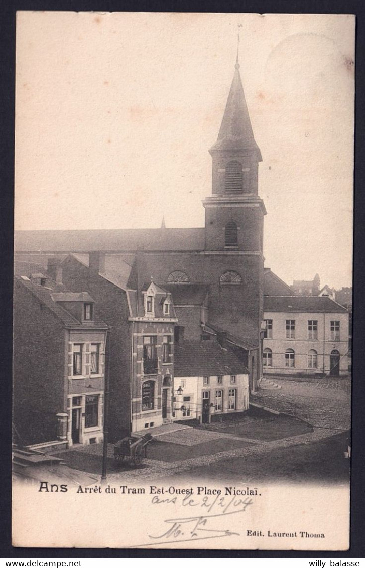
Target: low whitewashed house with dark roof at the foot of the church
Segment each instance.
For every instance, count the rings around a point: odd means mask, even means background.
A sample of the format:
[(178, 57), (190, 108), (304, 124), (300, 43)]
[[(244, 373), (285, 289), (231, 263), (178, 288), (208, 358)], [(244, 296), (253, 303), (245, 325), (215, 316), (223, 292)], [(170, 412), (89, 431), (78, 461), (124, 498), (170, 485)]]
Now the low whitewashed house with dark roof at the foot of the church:
[(174, 420), (204, 424), (248, 410), (247, 362), (244, 365), (223, 341), (183, 340), (175, 345)]

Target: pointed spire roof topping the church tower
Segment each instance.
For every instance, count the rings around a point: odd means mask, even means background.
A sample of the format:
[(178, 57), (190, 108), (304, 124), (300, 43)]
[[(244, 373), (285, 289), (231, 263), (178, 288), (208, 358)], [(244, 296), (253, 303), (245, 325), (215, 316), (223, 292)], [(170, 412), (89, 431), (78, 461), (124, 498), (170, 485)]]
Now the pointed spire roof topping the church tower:
[(223, 114), (217, 142), (210, 148), (210, 153), (219, 150), (255, 151), (259, 161), (261, 152), (254, 139), (246, 98), (239, 73), (239, 63), (235, 65), (235, 73), (228, 95), (226, 109)]

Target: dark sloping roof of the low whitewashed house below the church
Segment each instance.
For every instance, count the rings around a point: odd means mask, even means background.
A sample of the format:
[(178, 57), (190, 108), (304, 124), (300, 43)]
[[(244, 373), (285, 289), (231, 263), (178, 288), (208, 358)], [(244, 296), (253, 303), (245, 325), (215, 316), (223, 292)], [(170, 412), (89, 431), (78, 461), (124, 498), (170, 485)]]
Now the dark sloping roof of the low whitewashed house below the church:
[(218, 341), (182, 341), (175, 344), (175, 377), (247, 374), (247, 367)]

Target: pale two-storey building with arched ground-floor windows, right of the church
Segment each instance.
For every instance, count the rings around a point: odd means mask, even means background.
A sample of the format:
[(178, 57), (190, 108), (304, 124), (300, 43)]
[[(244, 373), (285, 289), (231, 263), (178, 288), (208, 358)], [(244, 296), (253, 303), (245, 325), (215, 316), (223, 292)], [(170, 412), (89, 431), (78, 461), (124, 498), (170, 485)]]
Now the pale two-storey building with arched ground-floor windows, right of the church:
[(349, 312), (328, 296), (264, 296), (265, 374), (347, 375)]

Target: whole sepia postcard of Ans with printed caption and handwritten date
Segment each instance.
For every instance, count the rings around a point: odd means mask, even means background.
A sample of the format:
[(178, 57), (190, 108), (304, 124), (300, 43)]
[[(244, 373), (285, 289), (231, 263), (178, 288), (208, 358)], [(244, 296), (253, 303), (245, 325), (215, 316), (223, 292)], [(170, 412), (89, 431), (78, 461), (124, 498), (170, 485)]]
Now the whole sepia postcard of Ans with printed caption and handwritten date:
[(349, 548), (354, 45), (18, 12), (14, 546)]

